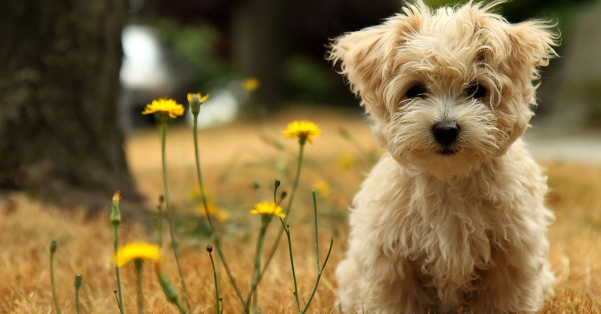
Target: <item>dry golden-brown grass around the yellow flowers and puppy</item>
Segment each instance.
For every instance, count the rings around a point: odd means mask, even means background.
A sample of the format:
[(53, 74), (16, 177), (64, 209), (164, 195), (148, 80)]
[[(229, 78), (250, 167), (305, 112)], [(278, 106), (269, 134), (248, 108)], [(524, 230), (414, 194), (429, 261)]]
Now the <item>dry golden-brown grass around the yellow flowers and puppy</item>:
[[(254, 127), (242, 122), (225, 128), (202, 131), (203, 170), (206, 183), (218, 205), (230, 213), (230, 222), (222, 225), (225, 234), (225, 255), (236, 274), (243, 291), (248, 291), (252, 255), (258, 217), (248, 214), (256, 201), (250, 182), (257, 178), (263, 184), (263, 198), (269, 198), (273, 178), (281, 178), (282, 188), (290, 187), (290, 172), (294, 168), (296, 146), (287, 143), (280, 151), (260, 139), (257, 134), (277, 137), (287, 121), (308, 118), (316, 121), (324, 135), (307, 148), (307, 166), (302, 174), (304, 184), (297, 194), (297, 204), (291, 216), (291, 232), (295, 253), (299, 292), (306, 300), (316, 276), (314, 262), (311, 203), (308, 191), (314, 181), (327, 180), (331, 195), (320, 199), (320, 248), (325, 255), (329, 237), (334, 235), (331, 261), (326, 267), (316, 297), (308, 312), (330, 313), (335, 294), (334, 267), (344, 252), (346, 223), (344, 208), (361, 181), (361, 171), (368, 169), (349, 142), (337, 134), (338, 125), (352, 130), (363, 151), (373, 149), (367, 125), (358, 116), (341, 116), (332, 112), (316, 111), (284, 113)], [(174, 199), (174, 210), (180, 217), (195, 217), (196, 205), (189, 202), (194, 184), (192, 140), (188, 128), (169, 130), (169, 181)], [(156, 130), (134, 134), (126, 150), (132, 172), (142, 193), (154, 200), (160, 193), (160, 154)], [(336, 159), (341, 152), (358, 158), (351, 171), (338, 169)], [(364, 161), (364, 163), (361, 163)], [(543, 313), (599, 313), (601, 312), (601, 166), (546, 163), (552, 192), (549, 206), (557, 221), (549, 231), (552, 262), (558, 277), (555, 291)], [(228, 173), (230, 176), (228, 177)], [(48, 248), (50, 240), (59, 242), (55, 258), (55, 276), (58, 297), (63, 312), (75, 312), (73, 279), (84, 277), (81, 291), (82, 304), (87, 313), (118, 313), (112, 289), (115, 288), (114, 268), (111, 265), (112, 233), (105, 217), (85, 219), (84, 210), (64, 211), (31, 201), (23, 195), (12, 196), (14, 207), (0, 207), (0, 313), (52, 313), (52, 295), (49, 278)], [(111, 195), (107, 196), (107, 204)], [(149, 205), (153, 205), (150, 202)], [(127, 210), (127, 208), (122, 208)], [(198, 236), (195, 223), (182, 223), (179, 240), (186, 283), (191, 291), (194, 313), (214, 312), (214, 292), (210, 261), (204, 246), (209, 241)], [(275, 228), (272, 226), (272, 233)], [(128, 226), (121, 229), (121, 243), (153, 238), (154, 229), (145, 231)], [(165, 234), (166, 235), (166, 234)], [(167, 239), (167, 238), (166, 238)], [(168, 239), (165, 243), (168, 243)], [(267, 243), (269, 243), (269, 236)], [(323, 258), (322, 258), (323, 259)], [(163, 269), (173, 283), (178, 282), (171, 249), (165, 247)], [(135, 279), (131, 265), (122, 274), (126, 312), (135, 308)], [(242, 312), (225, 273), (221, 274), (224, 287), (225, 313)], [(285, 243), (261, 282), (258, 304), (263, 313), (295, 312), (293, 285)], [(145, 298), (148, 313), (176, 312), (166, 303), (151, 267), (145, 268)], [(304, 302), (304, 301), (301, 301)]]

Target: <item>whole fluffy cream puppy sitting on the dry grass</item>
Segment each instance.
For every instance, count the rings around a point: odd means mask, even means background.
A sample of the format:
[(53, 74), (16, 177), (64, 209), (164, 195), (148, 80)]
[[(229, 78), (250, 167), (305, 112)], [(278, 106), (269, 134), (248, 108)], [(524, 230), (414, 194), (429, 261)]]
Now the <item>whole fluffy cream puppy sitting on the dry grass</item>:
[(552, 293), (546, 177), (520, 136), (558, 36), (497, 4), (418, 0), (333, 41), (388, 149), (353, 201), (342, 312), (534, 312)]

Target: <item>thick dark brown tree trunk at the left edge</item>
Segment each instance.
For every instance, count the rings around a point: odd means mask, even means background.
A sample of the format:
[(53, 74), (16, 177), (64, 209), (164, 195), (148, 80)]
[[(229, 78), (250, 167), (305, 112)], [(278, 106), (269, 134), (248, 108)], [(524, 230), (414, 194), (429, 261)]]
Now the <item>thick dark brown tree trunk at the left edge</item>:
[(126, 0), (2, 1), (0, 190), (59, 205), (140, 201), (118, 125)]

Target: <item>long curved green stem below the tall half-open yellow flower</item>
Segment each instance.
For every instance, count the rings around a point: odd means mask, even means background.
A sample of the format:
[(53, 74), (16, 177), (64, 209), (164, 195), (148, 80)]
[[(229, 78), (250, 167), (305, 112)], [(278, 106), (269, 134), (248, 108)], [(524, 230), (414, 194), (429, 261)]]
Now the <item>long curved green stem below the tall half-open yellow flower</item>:
[(204, 213), (207, 216), (207, 220), (209, 220), (211, 234), (213, 235), (213, 244), (215, 244), (215, 250), (217, 250), (219, 260), (221, 260), (222, 264), (224, 265), (225, 272), (227, 273), (227, 276), (230, 278), (231, 285), (234, 287), (234, 290), (236, 291), (236, 294), (238, 295), (240, 303), (242, 303), (242, 306), (245, 306), (244, 298), (242, 297), (242, 292), (240, 292), (240, 288), (238, 288), (238, 285), (236, 284), (236, 279), (231, 274), (230, 267), (228, 267), (227, 261), (225, 261), (224, 254), (221, 250), (221, 240), (219, 239), (219, 234), (217, 233), (215, 224), (213, 224), (213, 220), (211, 219), (211, 216), (209, 214), (209, 207), (207, 206), (207, 198), (206, 198), (206, 194), (204, 193), (203, 175), (202, 175), (201, 169), (200, 169), (200, 154), (198, 153), (198, 131), (197, 131), (198, 123), (197, 123), (197, 119), (198, 119), (198, 114), (194, 115), (192, 132), (194, 134), (194, 155), (195, 155), (195, 159), (196, 159), (196, 176), (198, 179), (198, 186), (200, 187), (200, 196), (203, 201)]

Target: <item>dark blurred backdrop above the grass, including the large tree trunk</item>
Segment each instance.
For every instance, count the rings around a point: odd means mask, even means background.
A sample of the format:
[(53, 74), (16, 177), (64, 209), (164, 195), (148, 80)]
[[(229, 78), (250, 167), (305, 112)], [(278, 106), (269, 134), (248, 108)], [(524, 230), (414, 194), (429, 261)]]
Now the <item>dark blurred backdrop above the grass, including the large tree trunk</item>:
[[(188, 92), (211, 94), (200, 114), (206, 130), (260, 125), (282, 115), (319, 120), (334, 110), (334, 116), (351, 117), (346, 128), (368, 133), (358, 100), (325, 60), (327, 46), (343, 32), (382, 22), (402, 4), (4, 1), (0, 190), (24, 190), (59, 203), (66, 202), (58, 197), (65, 191), (76, 195), (69, 198), (75, 204), (94, 204), (115, 189), (142, 199), (128, 165), (135, 153), (127, 145), (154, 132), (156, 121), (140, 112), (157, 97), (186, 103)], [(561, 58), (544, 69), (534, 128), (526, 134), (531, 150), (540, 159), (599, 162), (601, 1), (522, 0), (498, 11), (511, 22), (552, 20), (562, 34)], [(188, 115), (174, 125), (189, 122)], [(282, 128), (285, 122), (276, 124)], [(364, 139), (372, 142), (368, 134)]]

